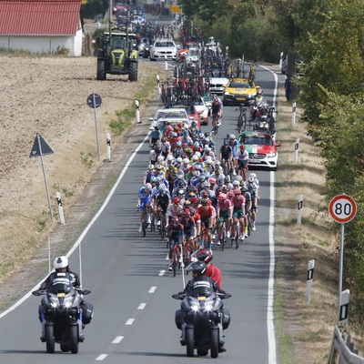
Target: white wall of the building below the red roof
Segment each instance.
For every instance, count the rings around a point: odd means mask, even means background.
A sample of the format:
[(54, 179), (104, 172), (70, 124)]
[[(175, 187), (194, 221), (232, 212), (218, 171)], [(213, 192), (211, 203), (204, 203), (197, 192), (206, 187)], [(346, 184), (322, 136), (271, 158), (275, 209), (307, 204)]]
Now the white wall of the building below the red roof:
[(75, 35), (0, 35), (0, 48), (53, 54), (64, 48), (68, 56), (82, 55), (82, 30)]

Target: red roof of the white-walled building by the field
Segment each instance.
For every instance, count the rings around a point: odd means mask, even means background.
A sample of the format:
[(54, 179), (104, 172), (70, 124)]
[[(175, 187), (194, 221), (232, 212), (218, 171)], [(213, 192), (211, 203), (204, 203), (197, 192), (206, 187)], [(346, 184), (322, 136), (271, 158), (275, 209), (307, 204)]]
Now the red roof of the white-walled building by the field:
[(75, 35), (81, 0), (0, 0), (0, 35)]

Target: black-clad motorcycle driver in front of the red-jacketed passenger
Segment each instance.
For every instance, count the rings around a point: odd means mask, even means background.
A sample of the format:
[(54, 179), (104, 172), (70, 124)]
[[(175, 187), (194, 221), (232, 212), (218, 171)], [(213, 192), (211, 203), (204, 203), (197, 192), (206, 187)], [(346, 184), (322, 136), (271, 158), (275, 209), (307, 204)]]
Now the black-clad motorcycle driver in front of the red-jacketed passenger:
[[(193, 278), (188, 281), (183, 293), (194, 296), (194, 290), (196, 289), (200, 293), (201, 288), (210, 288), (217, 293), (226, 293), (224, 290), (218, 288), (217, 282), (214, 279), (206, 276), (207, 267), (204, 261), (197, 260), (196, 262), (191, 263), (187, 269), (192, 271)], [(218, 352), (224, 351), (227, 351), (227, 349), (224, 348), (222, 342), (219, 342)]]

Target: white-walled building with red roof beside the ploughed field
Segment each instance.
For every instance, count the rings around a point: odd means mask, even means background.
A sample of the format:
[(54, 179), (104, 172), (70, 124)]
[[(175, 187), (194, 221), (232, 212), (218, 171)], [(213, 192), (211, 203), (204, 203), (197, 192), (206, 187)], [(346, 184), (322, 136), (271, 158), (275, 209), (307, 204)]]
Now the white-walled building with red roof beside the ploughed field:
[(82, 56), (81, 0), (0, 0), (0, 48)]

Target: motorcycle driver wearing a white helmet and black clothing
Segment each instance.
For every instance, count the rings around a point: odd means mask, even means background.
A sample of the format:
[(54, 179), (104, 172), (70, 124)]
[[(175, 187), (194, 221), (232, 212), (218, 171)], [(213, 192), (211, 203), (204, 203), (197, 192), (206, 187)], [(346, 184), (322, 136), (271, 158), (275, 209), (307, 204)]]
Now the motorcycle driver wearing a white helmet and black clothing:
[[(52, 284), (54, 278), (56, 278), (58, 273), (68, 273), (72, 278), (72, 285), (75, 288), (81, 288), (81, 282), (76, 272), (73, 272), (69, 268), (68, 259), (65, 256), (56, 257), (53, 267), (55, 268), (55, 272), (51, 273), (44, 282), (40, 285), (38, 290), (48, 289)], [(39, 320), (42, 324), (42, 336), (40, 337), (42, 342), (45, 342), (45, 310), (42, 305), (39, 305), (38, 308)], [(80, 341), (84, 340), (84, 334), (81, 332), (79, 336)]]

